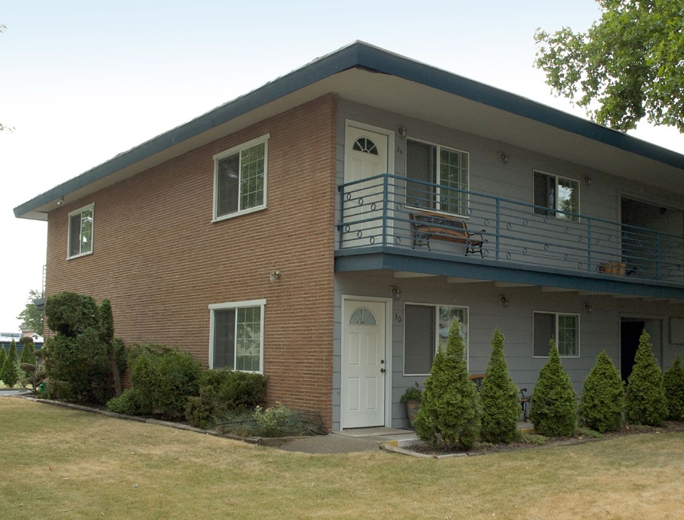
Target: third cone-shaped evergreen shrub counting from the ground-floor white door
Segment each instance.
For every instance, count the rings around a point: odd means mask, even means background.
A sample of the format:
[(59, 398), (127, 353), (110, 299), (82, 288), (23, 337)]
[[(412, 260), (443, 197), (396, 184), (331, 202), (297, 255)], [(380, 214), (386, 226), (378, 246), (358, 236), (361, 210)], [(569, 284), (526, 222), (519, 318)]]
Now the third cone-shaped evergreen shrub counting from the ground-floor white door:
[(553, 340), (549, 361), (539, 371), (532, 392), (530, 421), (546, 437), (571, 437), (577, 429), (577, 393), (563, 369)]

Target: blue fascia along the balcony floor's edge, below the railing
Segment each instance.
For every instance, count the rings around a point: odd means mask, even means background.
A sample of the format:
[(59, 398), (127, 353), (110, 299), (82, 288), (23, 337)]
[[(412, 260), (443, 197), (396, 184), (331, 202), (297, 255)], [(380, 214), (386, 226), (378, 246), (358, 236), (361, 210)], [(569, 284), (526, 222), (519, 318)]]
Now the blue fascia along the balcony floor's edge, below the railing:
[(454, 261), (453, 257), (441, 257), (440, 255), (426, 257), (424, 254), (414, 251), (397, 253), (391, 247), (383, 248), (382, 246), (364, 248), (363, 252), (358, 250), (354, 253), (335, 252), (336, 273), (379, 270), (561, 287), (576, 291), (605, 292), (643, 298), (684, 300), (684, 287), (647, 280), (625, 277), (611, 279), (600, 274), (573, 273), (560, 269), (539, 271), (513, 264), (501, 265), (501, 262), (495, 263), (479, 258), (460, 258), (458, 261)]

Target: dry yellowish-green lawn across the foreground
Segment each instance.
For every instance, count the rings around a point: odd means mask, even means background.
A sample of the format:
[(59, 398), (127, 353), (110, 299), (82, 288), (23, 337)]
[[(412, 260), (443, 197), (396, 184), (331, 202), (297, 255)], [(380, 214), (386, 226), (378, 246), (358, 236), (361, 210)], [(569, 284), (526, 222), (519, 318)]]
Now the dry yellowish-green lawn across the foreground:
[(0, 399), (0, 518), (679, 518), (684, 434), (306, 455)]

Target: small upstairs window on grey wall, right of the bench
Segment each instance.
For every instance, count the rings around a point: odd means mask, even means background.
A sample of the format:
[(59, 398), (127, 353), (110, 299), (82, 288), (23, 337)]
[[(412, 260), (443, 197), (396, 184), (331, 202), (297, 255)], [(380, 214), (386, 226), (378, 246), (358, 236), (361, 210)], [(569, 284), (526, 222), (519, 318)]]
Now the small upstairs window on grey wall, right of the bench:
[(578, 221), (579, 182), (535, 171), (534, 205), (537, 215)]

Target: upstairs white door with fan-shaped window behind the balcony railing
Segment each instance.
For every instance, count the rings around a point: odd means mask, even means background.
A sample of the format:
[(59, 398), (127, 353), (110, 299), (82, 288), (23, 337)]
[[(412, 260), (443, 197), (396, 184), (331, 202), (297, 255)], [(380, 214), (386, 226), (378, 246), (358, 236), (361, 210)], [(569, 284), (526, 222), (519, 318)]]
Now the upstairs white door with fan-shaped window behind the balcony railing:
[[(390, 135), (347, 125), (345, 183), (389, 173)], [(373, 179), (349, 187), (343, 201), (343, 247), (359, 247), (382, 240), (383, 180)]]

